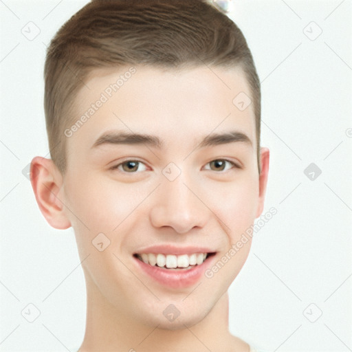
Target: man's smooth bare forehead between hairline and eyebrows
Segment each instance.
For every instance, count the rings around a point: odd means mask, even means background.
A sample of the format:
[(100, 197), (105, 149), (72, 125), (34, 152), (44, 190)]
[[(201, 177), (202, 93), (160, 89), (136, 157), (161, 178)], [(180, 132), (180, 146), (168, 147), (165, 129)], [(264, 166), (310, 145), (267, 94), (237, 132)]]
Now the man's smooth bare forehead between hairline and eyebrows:
[[(125, 66), (91, 72), (75, 100), (79, 123), (70, 144), (90, 148), (111, 129), (180, 144), (236, 128), (255, 143), (250, 89), (241, 69)], [(163, 143), (164, 145), (164, 143)]]

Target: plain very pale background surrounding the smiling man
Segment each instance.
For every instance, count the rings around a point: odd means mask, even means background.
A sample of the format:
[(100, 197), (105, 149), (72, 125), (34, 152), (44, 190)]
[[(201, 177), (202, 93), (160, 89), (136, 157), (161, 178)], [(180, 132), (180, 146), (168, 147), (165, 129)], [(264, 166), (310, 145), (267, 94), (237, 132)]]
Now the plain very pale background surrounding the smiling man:
[[(46, 45), (87, 2), (0, 0), (0, 351), (74, 351), (83, 340), (74, 232), (47, 224), (22, 171), (49, 157)], [(262, 82), (263, 213), (278, 210), (230, 287), (230, 330), (268, 351), (352, 351), (351, 0), (237, 0), (230, 17)], [(35, 314), (30, 303), (41, 313), (32, 323), (21, 315)]]

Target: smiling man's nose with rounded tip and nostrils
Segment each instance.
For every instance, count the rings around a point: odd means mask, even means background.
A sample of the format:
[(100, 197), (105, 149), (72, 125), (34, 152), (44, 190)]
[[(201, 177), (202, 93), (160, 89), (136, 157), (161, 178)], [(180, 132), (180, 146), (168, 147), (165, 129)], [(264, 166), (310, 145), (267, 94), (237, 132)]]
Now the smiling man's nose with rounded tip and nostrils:
[(170, 227), (179, 234), (203, 228), (210, 210), (203, 203), (201, 190), (181, 175), (173, 181), (163, 179), (155, 192), (150, 220), (155, 228)]

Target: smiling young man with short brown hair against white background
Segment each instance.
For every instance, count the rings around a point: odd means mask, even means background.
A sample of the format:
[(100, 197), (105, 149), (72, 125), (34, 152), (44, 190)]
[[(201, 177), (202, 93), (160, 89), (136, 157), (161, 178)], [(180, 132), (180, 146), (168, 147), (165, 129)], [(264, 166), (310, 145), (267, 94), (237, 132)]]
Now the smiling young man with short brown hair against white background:
[(52, 159), (32, 187), (72, 226), (87, 285), (79, 352), (254, 351), (228, 287), (261, 215), (259, 79), (243, 34), (201, 0), (92, 1), (45, 63)]

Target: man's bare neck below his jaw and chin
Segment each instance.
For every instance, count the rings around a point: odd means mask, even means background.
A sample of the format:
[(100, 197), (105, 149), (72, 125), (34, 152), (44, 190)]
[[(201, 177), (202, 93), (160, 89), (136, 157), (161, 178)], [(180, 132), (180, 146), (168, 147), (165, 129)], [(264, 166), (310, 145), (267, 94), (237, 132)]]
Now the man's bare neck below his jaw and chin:
[(227, 292), (197, 324), (168, 330), (136, 323), (113, 307), (91, 281), (87, 283), (85, 338), (79, 352), (93, 351), (248, 352), (250, 348), (229, 332)]

